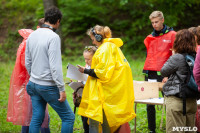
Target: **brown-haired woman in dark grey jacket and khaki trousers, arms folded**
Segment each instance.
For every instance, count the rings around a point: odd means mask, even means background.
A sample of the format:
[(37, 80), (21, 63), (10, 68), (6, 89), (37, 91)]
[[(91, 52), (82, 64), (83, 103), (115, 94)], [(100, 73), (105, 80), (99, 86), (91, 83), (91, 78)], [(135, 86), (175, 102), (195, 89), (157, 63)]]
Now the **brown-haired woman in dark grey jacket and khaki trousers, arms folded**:
[[(195, 97), (186, 97), (186, 114), (184, 114), (181, 90), (186, 89), (182, 83), (187, 79), (188, 66), (185, 55), (189, 54), (195, 58), (196, 43), (194, 35), (188, 29), (177, 32), (173, 45), (172, 55), (161, 69), (161, 75), (169, 77), (163, 86), (166, 104), (166, 133), (173, 133), (174, 127), (195, 127), (195, 114), (197, 102)], [(184, 129), (185, 130), (185, 129)], [(182, 131), (185, 132), (185, 131)], [(191, 131), (190, 133), (195, 133)]]

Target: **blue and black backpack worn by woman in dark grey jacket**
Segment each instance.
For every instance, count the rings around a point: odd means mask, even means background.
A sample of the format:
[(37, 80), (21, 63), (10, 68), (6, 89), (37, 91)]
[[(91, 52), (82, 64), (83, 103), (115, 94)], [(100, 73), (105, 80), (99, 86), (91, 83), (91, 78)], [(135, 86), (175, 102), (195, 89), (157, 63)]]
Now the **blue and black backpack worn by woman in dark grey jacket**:
[(194, 68), (194, 57), (191, 55), (184, 55), (185, 61), (188, 67), (188, 75), (186, 81), (183, 81), (178, 74), (177, 77), (180, 81), (180, 92), (178, 93), (179, 98), (183, 99), (183, 115), (186, 115), (186, 98), (199, 99), (198, 86), (194, 80), (193, 68)]

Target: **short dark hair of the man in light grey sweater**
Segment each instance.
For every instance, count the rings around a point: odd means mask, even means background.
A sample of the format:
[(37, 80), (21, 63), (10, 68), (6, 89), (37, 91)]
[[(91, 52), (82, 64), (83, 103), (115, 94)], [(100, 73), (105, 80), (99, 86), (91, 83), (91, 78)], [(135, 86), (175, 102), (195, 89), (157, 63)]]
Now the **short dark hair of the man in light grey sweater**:
[(50, 24), (56, 24), (58, 20), (62, 19), (62, 13), (57, 7), (51, 7), (45, 12), (45, 22), (49, 22)]

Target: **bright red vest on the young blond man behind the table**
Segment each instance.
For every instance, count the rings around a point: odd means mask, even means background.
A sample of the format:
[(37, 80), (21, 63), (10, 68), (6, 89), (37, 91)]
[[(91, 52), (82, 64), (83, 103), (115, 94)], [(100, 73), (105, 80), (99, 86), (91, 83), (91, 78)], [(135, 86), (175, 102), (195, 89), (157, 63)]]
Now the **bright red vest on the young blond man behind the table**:
[(160, 71), (164, 63), (172, 55), (172, 47), (175, 40), (175, 31), (169, 31), (161, 36), (148, 35), (144, 44), (147, 48), (147, 57), (144, 70)]

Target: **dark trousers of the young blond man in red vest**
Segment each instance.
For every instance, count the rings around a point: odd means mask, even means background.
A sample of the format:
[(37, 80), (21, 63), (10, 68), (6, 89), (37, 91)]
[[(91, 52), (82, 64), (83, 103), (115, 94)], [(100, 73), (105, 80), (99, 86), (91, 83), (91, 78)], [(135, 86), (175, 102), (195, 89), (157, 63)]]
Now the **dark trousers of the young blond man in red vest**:
[[(156, 71), (148, 71), (147, 76), (145, 76), (145, 81), (148, 79), (157, 79), (157, 82), (162, 82), (163, 77), (158, 75)], [(155, 105), (147, 104), (147, 119), (148, 119), (148, 128), (153, 133), (156, 129), (156, 110)]]

